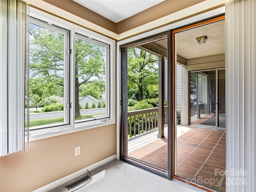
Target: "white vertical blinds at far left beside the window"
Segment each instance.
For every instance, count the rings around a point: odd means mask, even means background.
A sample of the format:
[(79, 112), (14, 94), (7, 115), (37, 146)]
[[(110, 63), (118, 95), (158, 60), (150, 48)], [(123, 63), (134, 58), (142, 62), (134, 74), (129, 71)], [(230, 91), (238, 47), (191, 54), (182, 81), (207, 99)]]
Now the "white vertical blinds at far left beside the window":
[(24, 149), (27, 4), (0, 0), (0, 156)]

